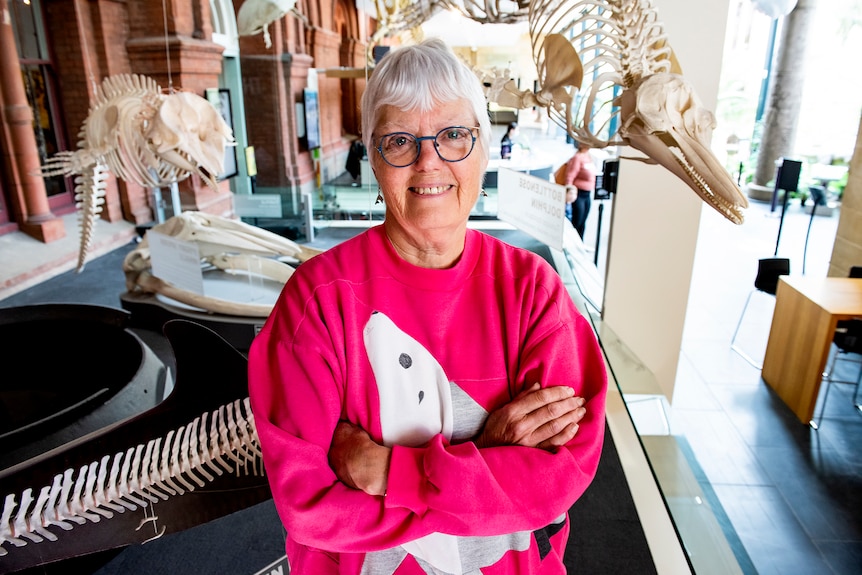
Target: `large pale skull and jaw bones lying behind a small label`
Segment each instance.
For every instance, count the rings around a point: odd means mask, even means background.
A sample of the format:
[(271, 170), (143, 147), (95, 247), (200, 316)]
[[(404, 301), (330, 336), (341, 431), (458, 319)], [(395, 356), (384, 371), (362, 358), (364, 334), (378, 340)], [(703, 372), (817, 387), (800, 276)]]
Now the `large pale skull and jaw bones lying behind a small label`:
[[(293, 268), (274, 257), (304, 261), (320, 253), (242, 221), (194, 211), (173, 216), (150, 231), (195, 242), (204, 266), (214, 266), (228, 273), (264, 277), (281, 284), (287, 282)], [(153, 276), (150, 268), (149, 241), (144, 236), (123, 260), (127, 291), (162, 294), (186, 305), (224, 315), (267, 317), (272, 311), (269, 304), (233, 302), (182, 289)]]

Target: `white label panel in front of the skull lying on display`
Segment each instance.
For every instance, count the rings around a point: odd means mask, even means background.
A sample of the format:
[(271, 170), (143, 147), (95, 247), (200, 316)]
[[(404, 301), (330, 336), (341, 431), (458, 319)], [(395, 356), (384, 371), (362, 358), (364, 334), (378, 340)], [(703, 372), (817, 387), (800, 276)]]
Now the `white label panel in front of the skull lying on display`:
[(153, 276), (174, 287), (203, 295), (201, 256), (195, 242), (178, 240), (150, 230), (147, 232), (147, 243), (150, 246)]

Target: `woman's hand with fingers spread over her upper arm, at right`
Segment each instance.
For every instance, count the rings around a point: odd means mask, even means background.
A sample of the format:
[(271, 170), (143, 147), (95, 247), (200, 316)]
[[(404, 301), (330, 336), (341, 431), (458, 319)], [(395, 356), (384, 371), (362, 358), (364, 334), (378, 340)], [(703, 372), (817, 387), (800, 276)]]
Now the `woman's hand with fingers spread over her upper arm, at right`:
[(488, 416), (476, 445), (523, 445), (547, 451), (565, 445), (578, 432), (586, 413), (584, 398), (574, 393), (565, 385), (542, 389), (533, 384)]

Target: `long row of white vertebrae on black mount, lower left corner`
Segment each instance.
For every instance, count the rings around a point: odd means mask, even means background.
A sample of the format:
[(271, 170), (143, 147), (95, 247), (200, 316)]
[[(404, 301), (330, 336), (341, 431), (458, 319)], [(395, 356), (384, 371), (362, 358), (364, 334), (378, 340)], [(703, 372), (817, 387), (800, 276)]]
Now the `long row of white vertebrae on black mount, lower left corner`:
[(16, 493), (6, 494), (0, 513), (0, 557), (14, 553), (7, 544), (48, 545), (64, 536), (58, 529), (68, 532), (117, 513), (146, 512), (153, 503), (205, 487), (225, 473), (264, 474), (247, 397), (204, 412), (146, 445), (66, 469), (50, 485), (26, 489), (17, 501)]

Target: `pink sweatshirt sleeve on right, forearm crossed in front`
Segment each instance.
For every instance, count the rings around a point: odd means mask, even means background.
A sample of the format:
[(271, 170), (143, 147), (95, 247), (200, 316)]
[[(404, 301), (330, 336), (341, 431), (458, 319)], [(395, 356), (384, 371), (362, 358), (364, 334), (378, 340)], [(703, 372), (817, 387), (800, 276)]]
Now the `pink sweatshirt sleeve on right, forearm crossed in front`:
[(387, 509), (409, 509), (431, 529), (455, 535), (532, 530), (565, 513), (595, 476), (604, 438), (606, 370), (582, 316), (528, 342), (516, 384), (535, 381), (570, 385), (587, 400), (586, 415), (565, 447), (555, 453), (477, 449), (472, 442), (447, 445), (440, 436), (424, 448), (396, 446)]

